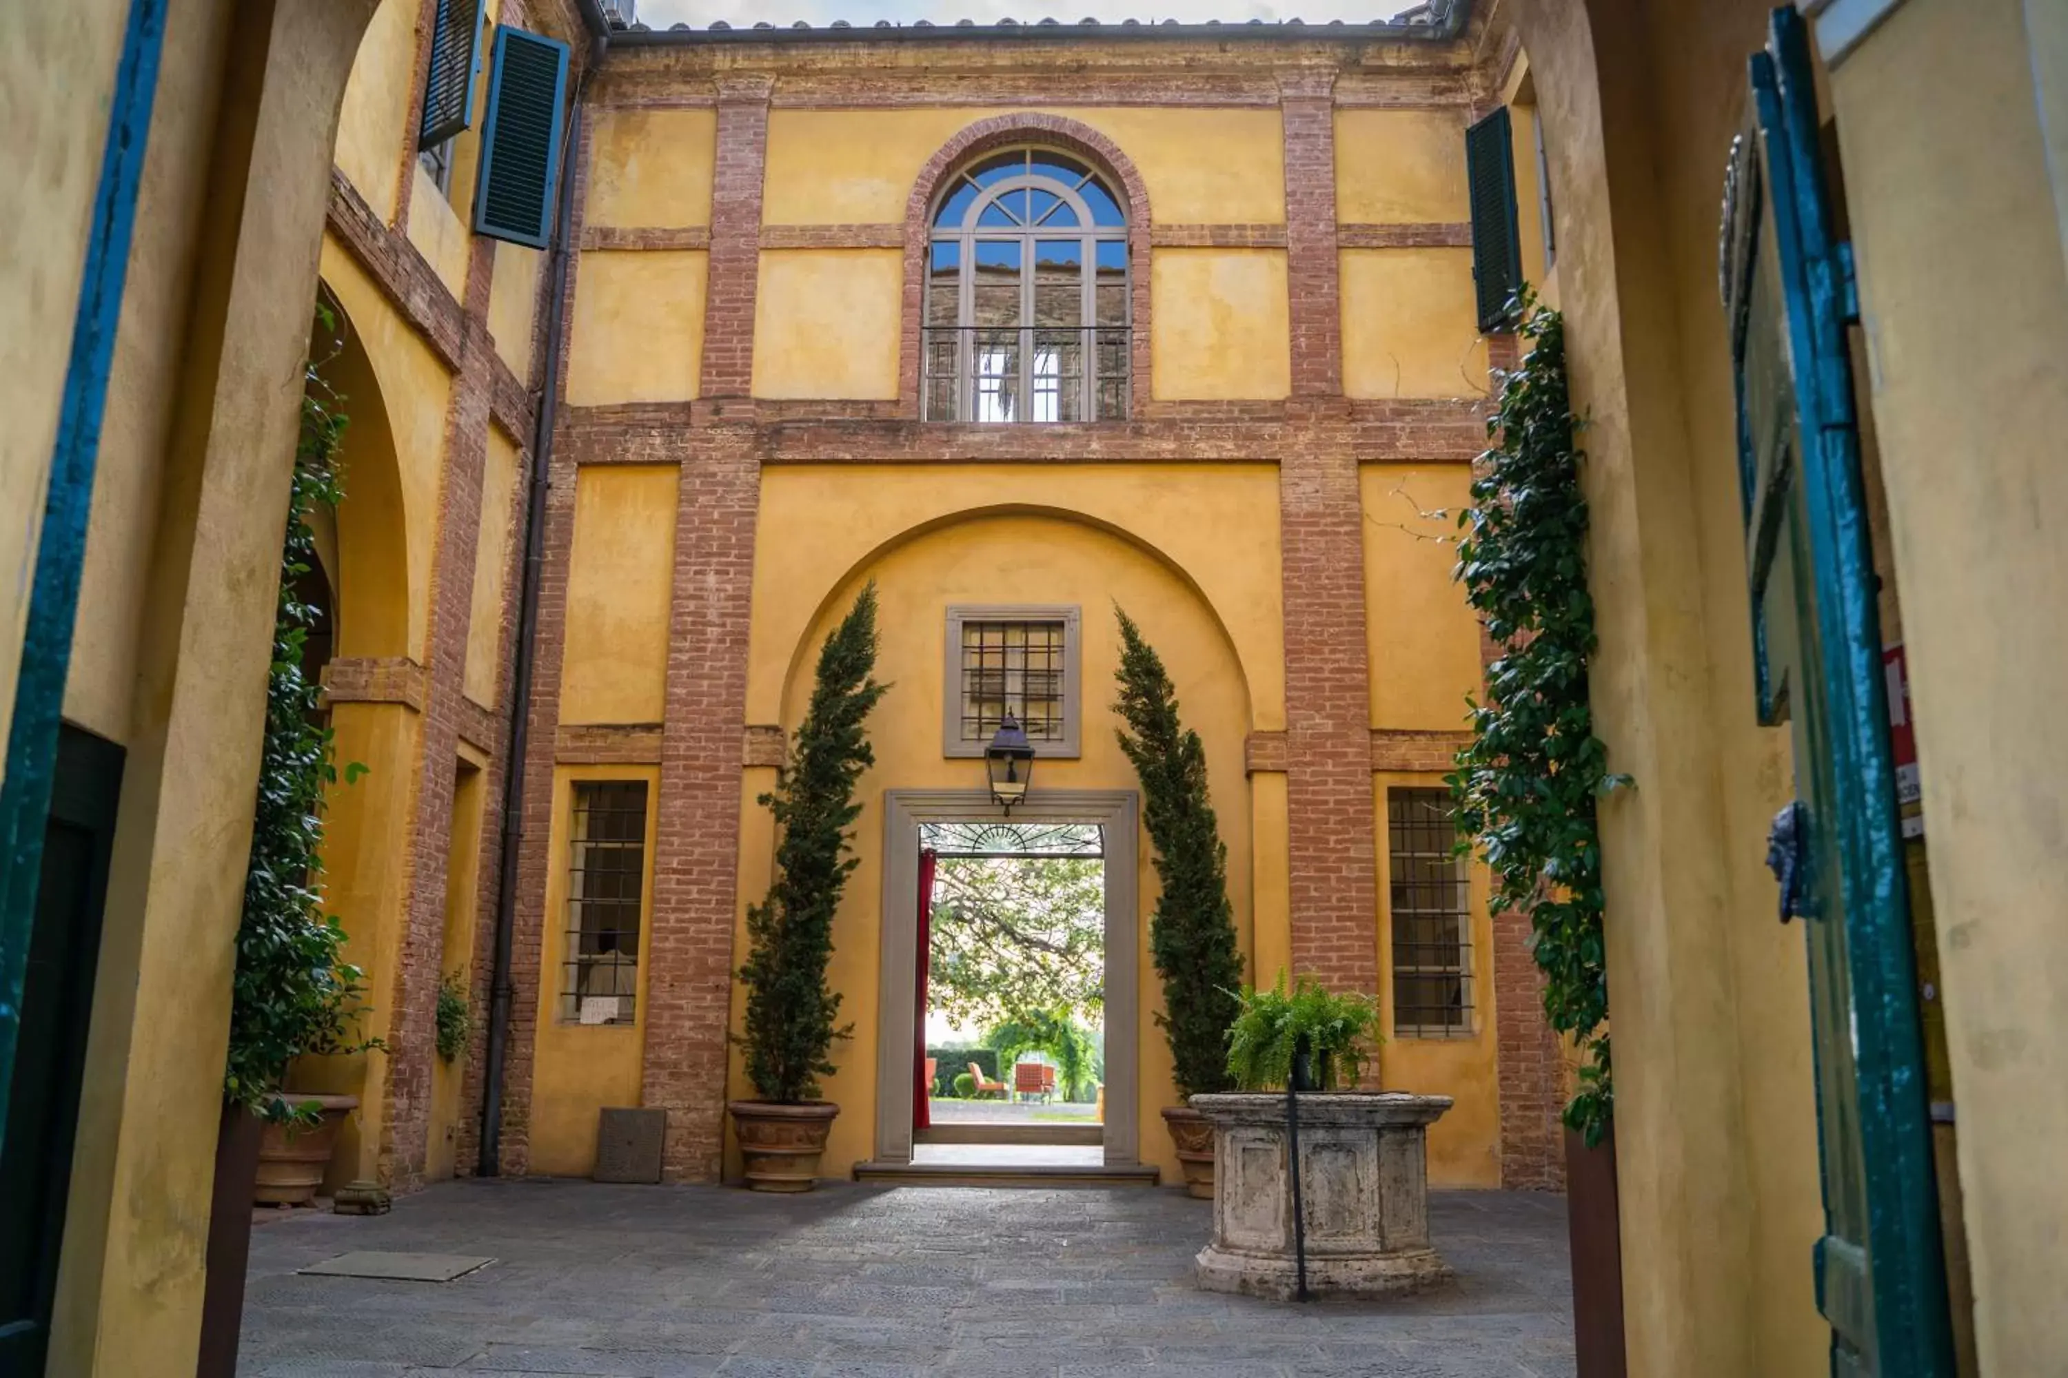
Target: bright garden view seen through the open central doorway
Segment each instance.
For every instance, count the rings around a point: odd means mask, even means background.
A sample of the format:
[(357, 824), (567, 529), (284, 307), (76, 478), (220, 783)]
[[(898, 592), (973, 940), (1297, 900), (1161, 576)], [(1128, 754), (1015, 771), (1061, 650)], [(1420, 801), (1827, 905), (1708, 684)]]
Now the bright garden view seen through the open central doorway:
[(914, 1163), (1104, 1161), (1104, 828), (918, 828)]

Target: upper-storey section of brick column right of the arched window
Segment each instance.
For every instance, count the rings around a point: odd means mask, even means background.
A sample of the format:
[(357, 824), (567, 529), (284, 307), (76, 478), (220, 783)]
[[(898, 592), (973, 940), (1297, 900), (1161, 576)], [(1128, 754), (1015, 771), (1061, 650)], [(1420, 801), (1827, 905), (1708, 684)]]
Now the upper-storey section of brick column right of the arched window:
[(1336, 74), (1278, 79), (1286, 140), (1286, 279), (1292, 289), (1292, 395), (1342, 395), (1336, 262)]

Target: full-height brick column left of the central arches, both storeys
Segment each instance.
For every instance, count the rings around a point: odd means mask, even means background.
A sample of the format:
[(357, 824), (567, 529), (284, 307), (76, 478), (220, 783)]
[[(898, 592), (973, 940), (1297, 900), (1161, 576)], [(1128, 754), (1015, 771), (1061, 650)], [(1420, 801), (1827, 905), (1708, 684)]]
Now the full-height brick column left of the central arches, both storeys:
[[(720, 1176), (732, 923), (738, 909), (747, 634), (761, 457), (751, 426), (767, 76), (722, 79), (711, 271), (703, 312), (703, 444), (682, 459), (660, 746), (645, 1103), (668, 1109), (664, 1169)], [(747, 421), (728, 421), (738, 405)]]

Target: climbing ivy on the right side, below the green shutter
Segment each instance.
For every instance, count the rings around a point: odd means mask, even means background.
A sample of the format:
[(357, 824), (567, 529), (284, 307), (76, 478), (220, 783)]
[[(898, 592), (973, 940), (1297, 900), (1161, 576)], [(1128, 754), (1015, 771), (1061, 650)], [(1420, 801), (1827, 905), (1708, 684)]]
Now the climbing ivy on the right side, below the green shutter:
[(1450, 787), (1460, 847), (1477, 845), (1493, 868), (1489, 907), (1530, 915), (1545, 1014), (1582, 1054), (1565, 1124), (1592, 1147), (1615, 1107), (1594, 804), (1628, 781), (1609, 773), (1588, 709), (1594, 599), (1565, 328), (1528, 293), (1518, 306), (1534, 347), (1503, 374), (1487, 421), (1491, 448), (1458, 516), (1456, 578), (1501, 655), (1487, 665), (1487, 698), (1472, 702), (1472, 742), (1458, 752)]

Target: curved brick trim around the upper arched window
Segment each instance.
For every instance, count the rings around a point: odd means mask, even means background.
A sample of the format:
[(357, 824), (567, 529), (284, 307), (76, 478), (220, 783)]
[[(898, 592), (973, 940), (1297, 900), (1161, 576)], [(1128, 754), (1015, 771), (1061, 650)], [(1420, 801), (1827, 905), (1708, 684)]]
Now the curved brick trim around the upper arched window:
[(1150, 192), (1117, 143), (1082, 120), (1017, 112), (991, 116), (966, 126), (941, 145), (920, 167), (906, 200), (906, 291), (898, 335), (898, 415), (916, 421), (920, 320), (926, 304), (926, 242), (933, 233), (933, 202), (949, 174), (962, 171), (984, 153), (1013, 145), (1042, 145), (1090, 163), (1127, 200), (1127, 295), (1133, 312), (1127, 347), (1127, 413), (1139, 415), (1150, 393)]

